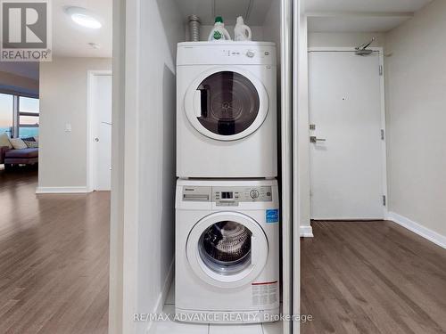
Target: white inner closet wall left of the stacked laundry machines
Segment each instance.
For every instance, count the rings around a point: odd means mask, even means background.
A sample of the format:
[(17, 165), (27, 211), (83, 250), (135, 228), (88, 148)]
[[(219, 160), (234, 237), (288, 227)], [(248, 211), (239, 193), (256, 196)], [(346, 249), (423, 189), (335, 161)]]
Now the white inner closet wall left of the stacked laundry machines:
[[(140, 1), (138, 66), (137, 308), (160, 312), (173, 272), (176, 184), (176, 53), (183, 18), (166, 0)], [(170, 276), (169, 276), (170, 275)], [(143, 332), (147, 323), (137, 325)]]

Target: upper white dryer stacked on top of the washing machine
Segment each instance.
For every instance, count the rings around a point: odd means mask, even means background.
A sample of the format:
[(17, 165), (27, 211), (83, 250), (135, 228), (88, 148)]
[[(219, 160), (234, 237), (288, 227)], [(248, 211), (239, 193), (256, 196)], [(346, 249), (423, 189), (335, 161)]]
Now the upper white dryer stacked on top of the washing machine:
[(178, 177), (276, 177), (276, 81), (274, 43), (179, 43)]

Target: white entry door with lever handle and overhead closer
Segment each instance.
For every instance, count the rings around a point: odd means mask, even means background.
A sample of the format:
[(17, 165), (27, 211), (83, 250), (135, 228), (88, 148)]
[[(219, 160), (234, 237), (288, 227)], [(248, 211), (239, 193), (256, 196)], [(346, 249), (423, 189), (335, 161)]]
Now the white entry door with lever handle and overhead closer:
[[(310, 52), (312, 219), (384, 218), (379, 53)], [(314, 130), (311, 126), (314, 125)]]

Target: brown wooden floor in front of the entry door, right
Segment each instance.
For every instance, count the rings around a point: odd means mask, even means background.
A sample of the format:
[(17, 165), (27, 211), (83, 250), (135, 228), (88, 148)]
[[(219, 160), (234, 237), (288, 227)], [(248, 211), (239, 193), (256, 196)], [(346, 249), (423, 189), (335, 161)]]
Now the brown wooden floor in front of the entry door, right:
[[(446, 223), (445, 223), (446, 224)], [(446, 333), (446, 250), (392, 222), (301, 239), (301, 333)]]

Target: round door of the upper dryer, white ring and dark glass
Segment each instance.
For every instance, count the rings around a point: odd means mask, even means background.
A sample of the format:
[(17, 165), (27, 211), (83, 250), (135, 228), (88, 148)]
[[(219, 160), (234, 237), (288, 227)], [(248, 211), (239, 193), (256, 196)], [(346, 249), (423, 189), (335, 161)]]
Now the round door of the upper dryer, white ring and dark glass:
[(186, 116), (212, 139), (234, 141), (256, 131), (268, 114), (268, 94), (243, 69), (219, 67), (202, 73), (186, 92)]

